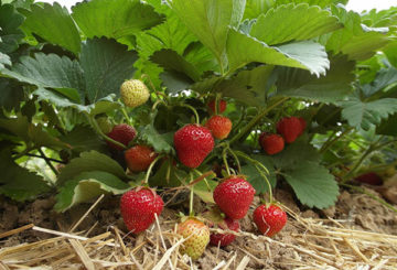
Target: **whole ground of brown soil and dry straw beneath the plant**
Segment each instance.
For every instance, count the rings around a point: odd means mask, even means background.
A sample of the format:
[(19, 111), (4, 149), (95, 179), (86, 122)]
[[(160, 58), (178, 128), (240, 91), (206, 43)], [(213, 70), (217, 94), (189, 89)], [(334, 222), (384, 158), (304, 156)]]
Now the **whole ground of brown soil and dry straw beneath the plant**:
[(0, 269), (397, 269), (397, 216), (368, 196), (342, 192), (336, 206), (322, 212), (300, 209), (282, 190), (276, 198), (289, 213), (279, 235), (258, 235), (248, 215), (233, 245), (208, 247), (193, 262), (179, 252), (180, 208), (165, 208), (147, 233), (133, 236), (126, 234), (117, 198), (63, 215), (51, 212), (52, 199), (19, 206), (2, 199)]

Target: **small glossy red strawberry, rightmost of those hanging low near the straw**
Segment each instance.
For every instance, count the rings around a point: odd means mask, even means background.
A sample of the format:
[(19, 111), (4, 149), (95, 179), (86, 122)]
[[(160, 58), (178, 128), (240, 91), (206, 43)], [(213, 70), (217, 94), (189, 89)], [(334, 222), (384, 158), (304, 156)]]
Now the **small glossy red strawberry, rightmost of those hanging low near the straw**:
[(260, 233), (272, 237), (279, 233), (287, 223), (287, 214), (277, 205), (267, 206), (265, 204), (258, 206), (254, 212), (254, 223)]

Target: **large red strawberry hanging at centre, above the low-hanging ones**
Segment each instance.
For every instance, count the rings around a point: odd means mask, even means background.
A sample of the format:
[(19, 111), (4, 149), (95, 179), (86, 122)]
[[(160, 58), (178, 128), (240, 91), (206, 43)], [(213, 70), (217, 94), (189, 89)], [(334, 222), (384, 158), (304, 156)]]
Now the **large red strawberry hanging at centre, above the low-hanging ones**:
[(198, 125), (186, 125), (174, 134), (179, 160), (189, 168), (197, 168), (214, 149), (211, 131)]

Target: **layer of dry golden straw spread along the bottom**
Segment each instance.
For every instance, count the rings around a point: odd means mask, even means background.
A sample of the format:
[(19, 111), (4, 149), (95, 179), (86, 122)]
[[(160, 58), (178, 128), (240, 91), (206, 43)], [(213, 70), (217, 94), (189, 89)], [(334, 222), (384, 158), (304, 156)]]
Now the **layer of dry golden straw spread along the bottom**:
[(397, 235), (354, 228), (348, 217), (303, 217), (287, 206), (288, 226), (273, 239), (246, 226), (247, 218), (233, 245), (208, 247), (197, 261), (179, 252), (184, 239), (174, 233), (173, 214), (163, 213), (139, 236), (116, 225), (95, 236), (93, 227), (74, 233), (100, 199), (67, 233), (30, 224), (0, 234), (0, 240), (29, 231), (50, 236), (2, 248), (0, 269), (397, 269)]

